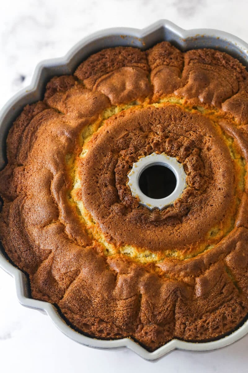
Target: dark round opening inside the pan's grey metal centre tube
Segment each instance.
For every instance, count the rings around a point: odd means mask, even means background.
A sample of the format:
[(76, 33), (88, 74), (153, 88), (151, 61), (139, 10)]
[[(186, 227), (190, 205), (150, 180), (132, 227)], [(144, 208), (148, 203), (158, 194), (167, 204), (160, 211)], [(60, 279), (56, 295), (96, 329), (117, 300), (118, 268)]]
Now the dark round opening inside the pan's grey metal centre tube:
[(165, 164), (152, 164), (144, 169), (139, 177), (140, 190), (150, 198), (168, 197), (176, 186), (175, 173)]

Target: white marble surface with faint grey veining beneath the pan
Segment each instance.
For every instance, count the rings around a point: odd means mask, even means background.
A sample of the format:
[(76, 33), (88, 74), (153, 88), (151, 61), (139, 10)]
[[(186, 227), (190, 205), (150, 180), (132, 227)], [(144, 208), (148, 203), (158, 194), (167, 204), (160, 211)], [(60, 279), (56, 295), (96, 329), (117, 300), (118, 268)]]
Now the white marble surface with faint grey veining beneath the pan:
[[(42, 59), (64, 55), (102, 28), (143, 28), (167, 18), (182, 28), (217, 28), (248, 41), (247, 1), (35, 0), (1, 2), (0, 106), (29, 84)], [(174, 351), (155, 364), (131, 351), (83, 347), (51, 320), (19, 305), (13, 279), (0, 270), (0, 372), (248, 372), (248, 336), (207, 354)]]

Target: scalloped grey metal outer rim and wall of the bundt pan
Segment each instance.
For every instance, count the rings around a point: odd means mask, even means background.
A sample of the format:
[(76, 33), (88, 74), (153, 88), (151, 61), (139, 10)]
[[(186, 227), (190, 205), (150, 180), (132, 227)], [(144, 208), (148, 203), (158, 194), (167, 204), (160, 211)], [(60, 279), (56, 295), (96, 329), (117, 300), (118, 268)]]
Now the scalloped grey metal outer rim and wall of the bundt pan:
[[(103, 48), (131, 46), (145, 50), (161, 41), (169, 41), (181, 51), (195, 48), (213, 48), (225, 51), (233, 57), (236, 57), (244, 66), (248, 66), (248, 44), (222, 31), (212, 29), (193, 29), (185, 31), (169, 21), (162, 20), (142, 30), (113, 28), (96, 32), (77, 43), (65, 57), (39, 63), (35, 70), (31, 85), (27, 89), (17, 93), (3, 107), (0, 113), (0, 169), (2, 169), (7, 162), (6, 138), (13, 121), (20, 114), (25, 105), (43, 99), (45, 86), (53, 76), (73, 74), (76, 67), (83, 60)], [(61, 332), (74, 341), (89, 347), (101, 349), (127, 347), (142, 358), (155, 361), (176, 349), (194, 352), (216, 350), (232, 344), (248, 332), (248, 321), (246, 319), (243, 320), (241, 326), (237, 327), (233, 332), (225, 335), (223, 338), (198, 343), (172, 339), (153, 352), (147, 351), (130, 338), (115, 340), (90, 338), (72, 329), (72, 327), (66, 323), (60, 310), (53, 304), (31, 298), (28, 277), (8, 259), (2, 246), (0, 251), (0, 266), (15, 279), (18, 300), (22, 305), (48, 314)]]

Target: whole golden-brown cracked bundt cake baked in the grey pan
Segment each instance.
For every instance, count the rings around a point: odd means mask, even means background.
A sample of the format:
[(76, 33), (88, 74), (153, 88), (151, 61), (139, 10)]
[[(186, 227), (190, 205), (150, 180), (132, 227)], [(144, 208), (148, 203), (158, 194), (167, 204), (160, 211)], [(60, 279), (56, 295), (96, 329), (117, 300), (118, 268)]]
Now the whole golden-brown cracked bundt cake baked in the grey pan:
[[(128, 186), (140, 157), (184, 167), (173, 205)], [(208, 341), (248, 314), (248, 73), (227, 53), (104, 49), (24, 107), (0, 172), (0, 236), (51, 302), (93, 338), (154, 351)]]

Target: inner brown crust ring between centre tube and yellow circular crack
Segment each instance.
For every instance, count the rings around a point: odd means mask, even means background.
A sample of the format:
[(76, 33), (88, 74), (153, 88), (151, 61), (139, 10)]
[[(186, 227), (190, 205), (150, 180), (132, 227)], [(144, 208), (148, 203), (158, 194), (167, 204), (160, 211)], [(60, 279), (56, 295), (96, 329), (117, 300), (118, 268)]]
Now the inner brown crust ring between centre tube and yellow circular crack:
[[(110, 117), (90, 145), (79, 166), (81, 198), (117, 246), (161, 251), (166, 242), (171, 250), (187, 250), (233, 206), (230, 153), (200, 113), (171, 104), (126, 111)], [(188, 175), (182, 197), (162, 211), (140, 206), (127, 185), (130, 165), (154, 152), (177, 157)]]

